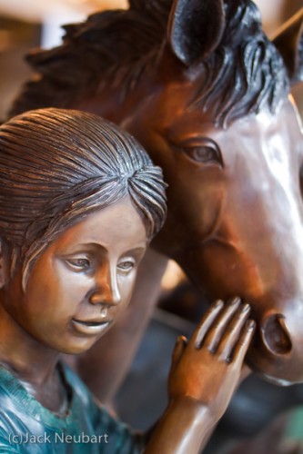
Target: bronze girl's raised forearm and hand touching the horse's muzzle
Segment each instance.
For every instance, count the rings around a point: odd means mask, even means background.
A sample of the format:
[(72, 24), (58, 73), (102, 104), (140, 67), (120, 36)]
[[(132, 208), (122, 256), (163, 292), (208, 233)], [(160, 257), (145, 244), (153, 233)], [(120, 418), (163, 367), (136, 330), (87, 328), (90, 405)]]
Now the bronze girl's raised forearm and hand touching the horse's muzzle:
[(238, 298), (216, 301), (190, 341), (177, 340), (168, 380), (169, 403), (146, 454), (199, 453), (227, 410), (255, 329)]

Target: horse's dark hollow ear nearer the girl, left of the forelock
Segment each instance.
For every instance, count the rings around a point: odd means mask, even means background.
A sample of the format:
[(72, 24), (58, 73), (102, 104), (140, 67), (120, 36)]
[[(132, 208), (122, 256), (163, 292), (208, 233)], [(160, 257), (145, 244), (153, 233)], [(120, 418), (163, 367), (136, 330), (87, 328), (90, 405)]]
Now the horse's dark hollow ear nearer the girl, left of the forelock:
[(223, 0), (174, 0), (167, 38), (177, 58), (189, 66), (219, 44), (225, 25)]

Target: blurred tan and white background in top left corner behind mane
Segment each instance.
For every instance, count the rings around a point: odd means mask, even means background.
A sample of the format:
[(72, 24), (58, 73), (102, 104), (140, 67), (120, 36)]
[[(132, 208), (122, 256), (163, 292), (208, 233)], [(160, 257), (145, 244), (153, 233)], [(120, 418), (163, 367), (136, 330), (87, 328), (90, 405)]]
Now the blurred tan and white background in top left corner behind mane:
[(60, 44), (61, 25), (81, 22), (108, 8), (126, 8), (126, 0), (0, 0), (0, 120), (30, 71), (29, 49)]

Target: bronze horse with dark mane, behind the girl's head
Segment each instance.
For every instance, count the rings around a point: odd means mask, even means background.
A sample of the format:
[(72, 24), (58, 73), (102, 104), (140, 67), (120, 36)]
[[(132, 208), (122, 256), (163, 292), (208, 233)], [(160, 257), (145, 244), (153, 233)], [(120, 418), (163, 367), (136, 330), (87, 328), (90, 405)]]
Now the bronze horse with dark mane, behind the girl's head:
[(11, 114), (76, 108), (133, 133), (168, 183), (153, 248), (212, 298), (249, 301), (249, 365), (301, 382), (303, 136), (288, 92), (303, 78), (303, 14), (270, 42), (250, 0), (129, 3), (28, 55), (36, 74)]

